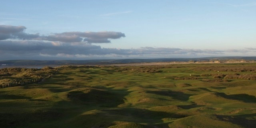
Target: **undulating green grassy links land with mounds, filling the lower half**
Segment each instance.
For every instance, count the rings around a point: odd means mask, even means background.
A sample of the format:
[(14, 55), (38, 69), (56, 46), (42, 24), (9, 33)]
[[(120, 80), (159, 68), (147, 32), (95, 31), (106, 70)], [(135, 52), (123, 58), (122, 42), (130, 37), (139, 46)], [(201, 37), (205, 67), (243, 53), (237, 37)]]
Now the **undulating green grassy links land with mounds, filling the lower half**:
[(1, 70), (2, 128), (256, 126), (256, 63)]

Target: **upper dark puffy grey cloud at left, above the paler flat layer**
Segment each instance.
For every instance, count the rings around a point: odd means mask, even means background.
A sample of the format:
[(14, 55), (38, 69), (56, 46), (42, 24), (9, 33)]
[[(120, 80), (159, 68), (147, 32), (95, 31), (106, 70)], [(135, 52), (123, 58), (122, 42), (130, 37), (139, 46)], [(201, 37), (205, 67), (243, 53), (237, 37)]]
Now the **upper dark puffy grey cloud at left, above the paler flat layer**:
[(20, 39), (20, 40), (41, 40), (58, 42), (87, 42), (87, 43), (110, 43), (109, 39), (125, 37), (121, 32), (63, 32), (54, 33), (48, 36), (39, 34), (27, 34), (24, 32), (25, 26), (0, 25), (0, 40)]

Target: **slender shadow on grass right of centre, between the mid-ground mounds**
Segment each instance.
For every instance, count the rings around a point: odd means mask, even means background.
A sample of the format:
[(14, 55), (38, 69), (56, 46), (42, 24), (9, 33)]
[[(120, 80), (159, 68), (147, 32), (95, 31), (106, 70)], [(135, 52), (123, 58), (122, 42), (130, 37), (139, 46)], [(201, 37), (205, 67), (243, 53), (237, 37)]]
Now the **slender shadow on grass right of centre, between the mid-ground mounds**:
[(186, 94), (183, 92), (175, 92), (172, 90), (146, 91), (146, 93), (157, 94), (157, 95), (161, 95), (161, 96), (170, 96), (173, 99), (182, 100), (182, 101), (187, 101), (190, 96), (193, 96), (192, 94)]

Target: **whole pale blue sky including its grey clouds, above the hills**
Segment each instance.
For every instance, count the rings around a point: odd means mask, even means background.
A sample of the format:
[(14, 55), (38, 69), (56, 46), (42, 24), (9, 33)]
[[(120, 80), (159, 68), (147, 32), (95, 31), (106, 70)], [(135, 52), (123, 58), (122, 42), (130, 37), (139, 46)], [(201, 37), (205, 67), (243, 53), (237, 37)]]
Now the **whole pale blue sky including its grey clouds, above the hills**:
[(0, 60), (256, 56), (256, 0), (0, 3)]

